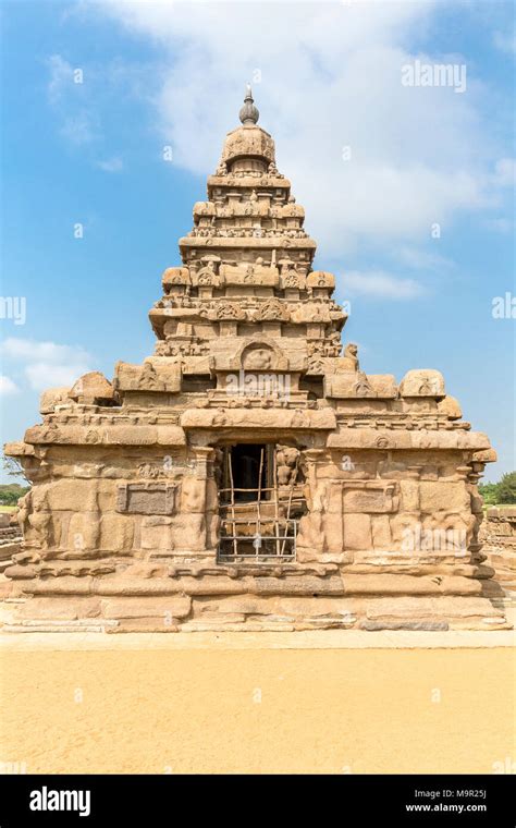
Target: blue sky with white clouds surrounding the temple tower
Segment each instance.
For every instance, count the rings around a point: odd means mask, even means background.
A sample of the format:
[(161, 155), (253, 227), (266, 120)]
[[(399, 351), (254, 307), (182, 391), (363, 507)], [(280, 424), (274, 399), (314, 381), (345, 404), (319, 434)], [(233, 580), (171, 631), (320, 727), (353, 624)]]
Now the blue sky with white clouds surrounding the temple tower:
[[(152, 352), (161, 272), (251, 81), (361, 367), (442, 370), (499, 451), (487, 479), (516, 467), (515, 320), (492, 314), (516, 295), (513, 4), (1, 9), (2, 295), (26, 300), (0, 320), (2, 441), (42, 388)], [(466, 88), (404, 86), (416, 61), (465, 66)]]

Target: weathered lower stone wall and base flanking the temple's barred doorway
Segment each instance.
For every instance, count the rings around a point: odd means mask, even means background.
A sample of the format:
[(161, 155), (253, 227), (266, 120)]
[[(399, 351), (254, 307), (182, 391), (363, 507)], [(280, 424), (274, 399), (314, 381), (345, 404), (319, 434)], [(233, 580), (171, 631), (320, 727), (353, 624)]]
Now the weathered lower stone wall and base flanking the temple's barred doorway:
[(46, 449), (52, 478), (21, 502), (24, 549), (5, 573), (12, 598), (33, 597), (8, 629), (505, 624), (463, 452), (308, 448), (300, 456), (307, 513), (296, 560), (257, 567), (217, 560), (216, 449), (94, 447), (82, 463), (76, 448)]

